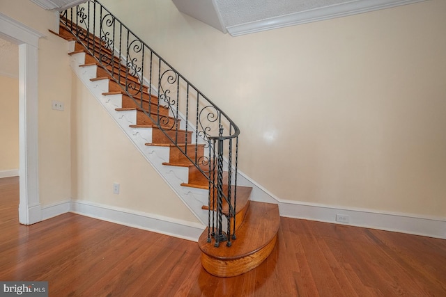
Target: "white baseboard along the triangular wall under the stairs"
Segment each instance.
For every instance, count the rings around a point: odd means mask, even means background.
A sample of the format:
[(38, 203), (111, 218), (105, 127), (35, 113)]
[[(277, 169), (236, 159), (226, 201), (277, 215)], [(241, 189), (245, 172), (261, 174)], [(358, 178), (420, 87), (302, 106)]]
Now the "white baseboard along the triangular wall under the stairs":
[(111, 207), (85, 200), (72, 200), (70, 211), (82, 216), (107, 220), (108, 222), (135, 227), (169, 236), (198, 241), (206, 226), (199, 223), (177, 220), (141, 211)]

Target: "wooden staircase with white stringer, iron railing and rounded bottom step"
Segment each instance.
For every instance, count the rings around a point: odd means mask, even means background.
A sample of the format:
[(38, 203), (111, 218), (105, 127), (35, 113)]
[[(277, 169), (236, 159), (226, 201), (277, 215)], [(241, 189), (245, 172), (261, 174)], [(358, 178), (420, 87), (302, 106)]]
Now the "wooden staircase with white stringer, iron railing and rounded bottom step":
[(238, 127), (98, 1), (61, 13), (52, 33), (70, 41), (73, 71), (208, 226), (203, 268), (229, 277), (259, 266), (275, 247), (279, 209), (237, 185)]

